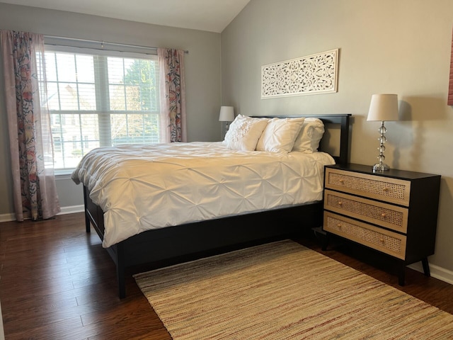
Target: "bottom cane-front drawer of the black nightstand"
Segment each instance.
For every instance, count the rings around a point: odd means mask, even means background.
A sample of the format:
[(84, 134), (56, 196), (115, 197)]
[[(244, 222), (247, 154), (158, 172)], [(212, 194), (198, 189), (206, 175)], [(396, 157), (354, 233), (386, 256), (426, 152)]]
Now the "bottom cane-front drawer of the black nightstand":
[(406, 258), (406, 236), (396, 232), (389, 232), (327, 211), (324, 212), (323, 229), (398, 259)]

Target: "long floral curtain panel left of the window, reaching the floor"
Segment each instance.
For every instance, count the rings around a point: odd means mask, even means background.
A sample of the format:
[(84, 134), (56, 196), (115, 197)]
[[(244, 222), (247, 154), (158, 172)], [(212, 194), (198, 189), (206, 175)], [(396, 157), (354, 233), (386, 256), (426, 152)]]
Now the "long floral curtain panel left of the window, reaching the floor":
[(1, 30), (16, 219), (60, 211), (44, 77), (44, 38)]

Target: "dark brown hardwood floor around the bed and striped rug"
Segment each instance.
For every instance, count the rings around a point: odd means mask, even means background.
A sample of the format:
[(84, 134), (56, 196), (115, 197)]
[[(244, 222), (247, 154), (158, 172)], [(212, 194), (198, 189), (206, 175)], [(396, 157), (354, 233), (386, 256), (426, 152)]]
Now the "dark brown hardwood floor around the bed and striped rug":
[[(453, 314), (453, 285), (407, 268), (401, 288), (373, 253), (340, 242), (321, 251), (313, 236), (298, 241)], [(113, 261), (98, 235), (86, 234), (82, 213), (1, 223), (0, 270), (6, 340), (171, 339), (132, 277), (127, 297), (117, 297)]]

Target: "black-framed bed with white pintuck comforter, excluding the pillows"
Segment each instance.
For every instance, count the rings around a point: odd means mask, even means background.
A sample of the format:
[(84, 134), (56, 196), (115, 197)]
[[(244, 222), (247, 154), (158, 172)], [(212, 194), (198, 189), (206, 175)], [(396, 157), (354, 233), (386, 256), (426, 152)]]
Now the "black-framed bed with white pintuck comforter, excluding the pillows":
[[(266, 116), (259, 120), (279, 124), (283, 119), (316, 118), (322, 121), (326, 132), (319, 142), (320, 152), (313, 154), (269, 152), (261, 142), (269, 128), (260, 132), (256, 146), (258, 149), (261, 144), (264, 149), (260, 151), (244, 151), (241, 149), (246, 147), (244, 145), (231, 150), (231, 145), (225, 147), (225, 142), (193, 142), (147, 146), (147, 152), (137, 146), (125, 146), (88, 153), (72, 179), (84, 185), (86, 232), (91, 232), (93, 225), (115, 262), (120, 298), (126, 295), (128, 269), (168, 260), (187, 261), (205, 254), (293, 237), (321, 225), (322, 183), (319, 188), (319, 181), (322, 176), (292, 179), (285, 183), (284, 191), (275, 189), (278, 185), (271, 177), (277, 174), (278, 178), (287, 179), (296, 170), (302, 172), (298, 165), (302, 158), (309, 159), (309, 166), (303, 166), (307, 174), (323, 172), (323, 164), (348, 162), (350, 115)], [(252, 135), (251, 130), (246, 132)], [(234, 135), (229, 136), (234, 143)], [(337, 145), (338, 153), (329, 156), (324, 152), (332, 154), (332, 145)], [(205, 157), (205, 149), (209, 150), (208, 157)], [(123, 154), (128, 154), (127, 160), (120, 158)], [(186, 157), (187, 154), (190, 157)], [(287, 166), (286, 162), (292, 163)], [(226, 171), (213, 170), (224, 167)], [(140, 168), (144, 174), (134, 173), (130, 177), (132, 168)], [(173, 172), (179, 174), (178, 190), (183, 190), (183, 194), (175, 195), (173, 189), (168, 188), (174, 184), (168, 184), (166, 176)], [(259, 173), (260, 185), (251, 183), (255, 181), (253, 177), (248, 179), (249, 174), (255, 173)], [(207, 189), (197, 188), (199, 178), (211, 181)], [(248, 180), (232, 184), (239, 179)], [(296, 189), (302, 182), (307, 187), (308, 183), (314, 183), (315, 191), (307, 196), (299, 193)], [(157, 196), (150, 195), (153, 191), (158, 192)], [(182, 207), (183, 213), (174, 210), (178, 208), (176, 205)]]

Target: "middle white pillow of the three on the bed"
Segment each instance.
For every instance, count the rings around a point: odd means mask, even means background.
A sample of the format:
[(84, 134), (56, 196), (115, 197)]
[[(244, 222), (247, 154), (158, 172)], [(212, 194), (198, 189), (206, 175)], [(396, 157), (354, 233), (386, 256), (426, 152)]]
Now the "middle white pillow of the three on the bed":
[(305, 118), (272, 118), (263, 131), (256, 149), (269, 152), (291, 152)]

